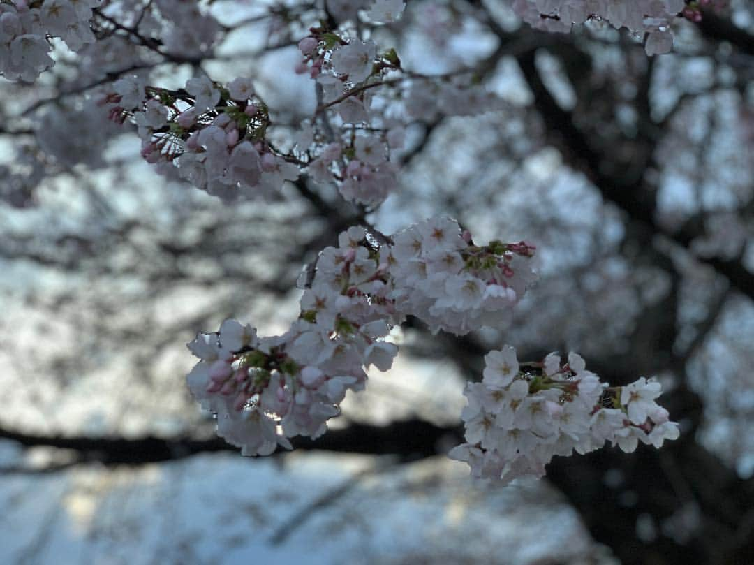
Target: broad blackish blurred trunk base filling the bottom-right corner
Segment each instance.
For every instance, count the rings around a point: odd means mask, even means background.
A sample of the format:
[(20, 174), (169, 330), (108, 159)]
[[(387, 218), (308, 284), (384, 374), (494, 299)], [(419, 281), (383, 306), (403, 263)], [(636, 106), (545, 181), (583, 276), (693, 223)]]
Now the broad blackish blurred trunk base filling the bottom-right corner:
[[(751, 540), (737, 542), (754, 483), (741, 480), (689, 435), (662, 450), (640, 446), (625, 454), (611, 448), (556, 458), (547, 477), (624, 565), (754, 562), (746, 549)], [(683, 512), (696, 513), (697, 524), (685, 526)], [(645, 542), (636, 539), (642, 516), (651, 517), (656, 529)]]

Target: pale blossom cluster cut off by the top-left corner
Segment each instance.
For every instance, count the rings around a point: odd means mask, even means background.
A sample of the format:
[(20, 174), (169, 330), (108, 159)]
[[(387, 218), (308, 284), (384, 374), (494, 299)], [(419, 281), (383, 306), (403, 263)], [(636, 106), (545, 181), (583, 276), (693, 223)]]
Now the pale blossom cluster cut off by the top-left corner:
[(73, 51), (94, 42), (89, 26), (100, 0), (12, 0), (0, 2), (0, 76), (34, 81), (53, 66), (48, 37), (60, 37)]

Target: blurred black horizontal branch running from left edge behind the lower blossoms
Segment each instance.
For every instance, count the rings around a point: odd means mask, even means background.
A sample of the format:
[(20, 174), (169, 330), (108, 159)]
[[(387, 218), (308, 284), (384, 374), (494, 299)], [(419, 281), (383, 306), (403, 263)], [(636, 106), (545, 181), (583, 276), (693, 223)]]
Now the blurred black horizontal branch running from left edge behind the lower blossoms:
[[(458, 426), (441, 427), (419, 419), (375, 426), (351, 423), (347, 428), (330, 430), (317, 440), (294, 438), (297, 450), (325, 450), (336, 453), (394, 455), (400, 461), (413, 461), (443, 453), (444, 447), (461, 443)], [(238, 447), (220, 438), (89, 438), (85, 436), (50, 436), (26, 434), (0, 428), (0, 439), (14, 441), (23, 447), (55, 447), (76, 452), (78, 463), (98, 462), (103, 465), (145, 465), (174, 461), (195, 455), (228, 451)], [(283, 453), (284, 450), (280, 450)]]

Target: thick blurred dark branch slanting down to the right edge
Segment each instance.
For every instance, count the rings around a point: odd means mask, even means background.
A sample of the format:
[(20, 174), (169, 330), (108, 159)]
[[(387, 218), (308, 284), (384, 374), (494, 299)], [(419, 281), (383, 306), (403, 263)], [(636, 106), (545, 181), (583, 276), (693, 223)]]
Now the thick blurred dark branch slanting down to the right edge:
[[(602, 155), (593, 148), (587, 136), (575, 124), (572, 113), (560, 108), (547, 91), (535, 66), (535, 52), (528, 51), (517, 57), (517, 60), (534, 94), (535, 106), (547, 126), (547, 137), (566, 152), (572, 165), (587, 175), (603, 198), (617, 204), (631, 220), (641, 223), (651, 232), (666, 235), (683, 247), (688, 247), (695, 237), (703, 235), (672, 232), (656, 223), (653, 192), (645, 186), (641, 177), (628, 179), (627, 182), (621, 175), (608, 175), (603, 172)], [(725, 275), (737, 290), (754, 299), (754, 273), (749, 272), (740, 260), (717, 257), (699, 260)]]

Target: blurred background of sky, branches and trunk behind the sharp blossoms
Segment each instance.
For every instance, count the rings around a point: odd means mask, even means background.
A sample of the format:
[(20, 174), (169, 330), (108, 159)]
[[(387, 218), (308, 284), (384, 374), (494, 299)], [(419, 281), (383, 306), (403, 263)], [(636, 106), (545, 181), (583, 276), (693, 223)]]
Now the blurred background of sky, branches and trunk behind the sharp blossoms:
[[(290, 135), (315, 105), (300, 29), (262, 2), (204, 8), (227, 27), (202, 68), (253, 77)], [(500, 109), (412, 122), (400, 186), (366, 218), (305, 178), (228, 206), (159, 176), (86, 87), (194, 69), (97, 25), (110, 51), (61, 47), (38, 84), (0, 81), (0, 562), (754, 563), (751, 3), (679, 21), (673, 54), (648, 58), (602, 22), (548, 34), (506, 2), (412, 0), (380, 44), (417, 72), (473, 68)], [(228, 317), (283, 332), (341, 229), (437, 213), (538, 246), (510, 324), (408, 324), (392, 370), (293, 453), (217, 440), (185, 342)], [(682, 437), (473, 483), (444, 454), (503, 343), (579, 352), (614, 385), (657, 376)]]

